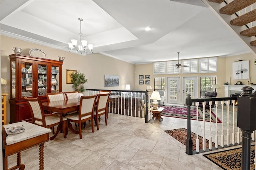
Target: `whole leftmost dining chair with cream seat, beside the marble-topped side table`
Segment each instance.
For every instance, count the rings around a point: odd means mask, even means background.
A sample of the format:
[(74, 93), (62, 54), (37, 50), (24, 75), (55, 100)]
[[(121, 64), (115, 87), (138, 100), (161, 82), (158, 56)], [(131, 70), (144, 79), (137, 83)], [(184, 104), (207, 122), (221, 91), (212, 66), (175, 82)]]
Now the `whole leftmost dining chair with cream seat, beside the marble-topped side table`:
[(50, 137), (50, 140), (53, 140), (58, 132), (63, 128), (63, 135), (66, 138), (66, 117), (62, 117), (62, 115), (55, 114), (44, 114), (43, 106), (41, 100), (36, 98), (28, 98), (24, 97), (28, 101), (28, 105), (30, 107), (30, 112), (32, 115), (32, 123), (45, 127), (45, 128), (53, 128), (57, 126), (57, 130), (53, 136)]

